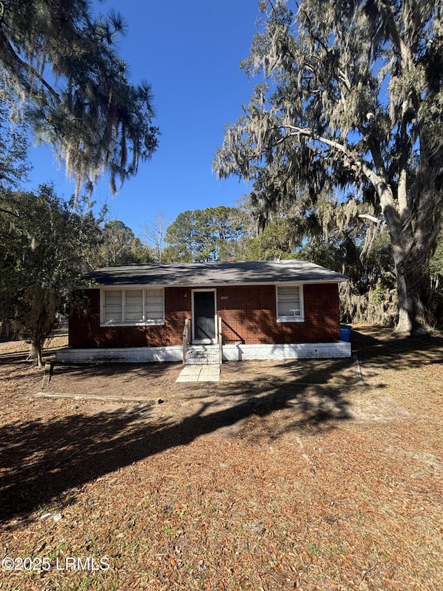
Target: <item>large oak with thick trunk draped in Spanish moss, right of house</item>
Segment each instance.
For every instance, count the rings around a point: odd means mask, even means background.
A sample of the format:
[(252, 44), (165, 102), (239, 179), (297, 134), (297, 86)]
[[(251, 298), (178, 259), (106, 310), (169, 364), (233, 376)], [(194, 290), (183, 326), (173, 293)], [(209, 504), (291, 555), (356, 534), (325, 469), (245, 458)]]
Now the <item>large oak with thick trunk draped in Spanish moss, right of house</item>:
[(218, 175), (253, 179), (262, 220), (305, 186), (310, 206), (340, 189), (329, 216), (388, 227), (397, 331), (425, 330), (442, 212), (442, 1), (275, 0), (260, 9), (243, 67), (264, 81), (226, 127)]

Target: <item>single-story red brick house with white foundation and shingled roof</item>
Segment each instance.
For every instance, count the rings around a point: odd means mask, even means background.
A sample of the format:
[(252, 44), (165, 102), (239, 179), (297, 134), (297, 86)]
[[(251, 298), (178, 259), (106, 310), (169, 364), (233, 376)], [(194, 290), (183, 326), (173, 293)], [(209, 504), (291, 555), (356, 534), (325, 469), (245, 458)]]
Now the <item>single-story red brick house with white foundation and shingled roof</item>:
[(84, 279), (60, 361), (350, 355), (338, 301), (347, 277), (307, 261), (123, 265)]

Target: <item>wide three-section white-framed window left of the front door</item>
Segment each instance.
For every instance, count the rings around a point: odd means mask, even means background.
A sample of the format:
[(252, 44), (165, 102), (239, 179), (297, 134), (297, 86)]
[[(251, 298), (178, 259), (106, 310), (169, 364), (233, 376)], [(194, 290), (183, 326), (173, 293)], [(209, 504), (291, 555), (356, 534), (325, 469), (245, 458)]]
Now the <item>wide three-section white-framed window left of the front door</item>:
[(101, 290), (101, 324), (120, 326), (164, 324), (162, 288)]

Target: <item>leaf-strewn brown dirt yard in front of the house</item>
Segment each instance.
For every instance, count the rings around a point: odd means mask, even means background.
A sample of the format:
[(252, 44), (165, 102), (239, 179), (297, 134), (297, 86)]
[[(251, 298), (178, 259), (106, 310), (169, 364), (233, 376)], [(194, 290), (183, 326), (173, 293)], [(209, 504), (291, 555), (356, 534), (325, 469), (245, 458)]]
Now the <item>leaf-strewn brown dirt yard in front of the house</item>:
[(43, 388), (0, 343), (0, 590), (443, 589), (443, 340), (352, 347), (198, 384), (56, 364)]

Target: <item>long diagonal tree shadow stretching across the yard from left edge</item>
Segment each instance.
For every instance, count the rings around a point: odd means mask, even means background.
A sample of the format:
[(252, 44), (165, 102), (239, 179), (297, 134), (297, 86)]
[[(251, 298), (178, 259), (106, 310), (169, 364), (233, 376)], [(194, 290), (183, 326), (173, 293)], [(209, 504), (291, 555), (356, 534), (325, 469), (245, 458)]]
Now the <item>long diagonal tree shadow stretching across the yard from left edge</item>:
[[(261, 421), (286, 409), (286, 421), (270, 421), (266, 436), (309, 428), (332, 429), (352, 418), (347, 389), (354, 386), (352, 373), (336, 385), (328, 385), (343, 371), (343, 360), (319, 365), (311, 382), (297, 372), (285, 380), (219, 382), (206, 399), (208, 385), (192, 385), (196, 406), (179, 421), (159, 418), (154, 407), (120, 407), (112, 412), (75, 412), (49, 421), (17, 421), (0, 432), (0, 520), (26, 519), (39, 506), (69, 503), (72, 491), (101, 475), (152, 457), (172, 447), (187, 446), (223, 427), (242, 427), (253, 437), (248, 420)], [(227, 397), (230, 396), (228, 404)], [(197, 408), (196, 408), (197, 407)], [(168, 412), (167, 405), (162, 405)], [(279, 415), (280, 416), (280, 415)]]

